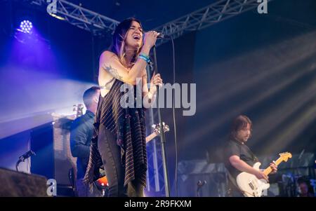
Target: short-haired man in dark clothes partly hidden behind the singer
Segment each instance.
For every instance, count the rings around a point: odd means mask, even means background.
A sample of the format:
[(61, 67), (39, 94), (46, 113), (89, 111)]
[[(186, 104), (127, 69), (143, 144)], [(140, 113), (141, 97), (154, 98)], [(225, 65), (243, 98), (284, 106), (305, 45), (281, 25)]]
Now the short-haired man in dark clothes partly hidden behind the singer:
[[(84, 92), (83, 100), (86, 114), (74, 120), (70, 132), (70, 149), (77, 157), (77, 193), (79, 197), (91, 196), (88, 186), (81, 181), (88, 165), (90, 144), (93, 134), (93, 122), (98, 107), (100, 88), (93, 86)], [(96, 196), (92, 194), (92, 196)]]

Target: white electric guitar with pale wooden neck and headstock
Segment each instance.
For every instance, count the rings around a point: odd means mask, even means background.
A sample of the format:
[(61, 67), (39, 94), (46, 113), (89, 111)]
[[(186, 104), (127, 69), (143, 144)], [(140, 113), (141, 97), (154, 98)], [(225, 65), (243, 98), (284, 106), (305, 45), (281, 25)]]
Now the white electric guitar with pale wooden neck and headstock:
[[(279, 158), (275, 161), (275, 165), (287, 162), (292, 155), (289, 152), (279, 154)], [(255, 163), (254, 168), (259, 170), (261, 163)], [(269, 175), (272, 172), (272, 168), (269, 166), (263, 170), (265, 175)], [(242, 172), (237, 175), (237, 185), (246, 197), (261, 197), (263, 191), (270, 187), (270, 184), (265, 179), (258, 179), (255, 175), (249, 174), (247, 172)]]

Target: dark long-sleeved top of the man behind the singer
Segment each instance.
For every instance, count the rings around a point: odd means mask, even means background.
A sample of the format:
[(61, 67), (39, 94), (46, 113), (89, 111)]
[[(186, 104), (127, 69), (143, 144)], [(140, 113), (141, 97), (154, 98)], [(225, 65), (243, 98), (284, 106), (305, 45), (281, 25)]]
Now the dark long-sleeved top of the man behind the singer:
[(72, 123), (70, 149), (72, 156), (77, 157), (77, 179), (84, 178), (88, 166), (94, 116), (93, 112), (87, 110), (86, 114), (79, 116)]

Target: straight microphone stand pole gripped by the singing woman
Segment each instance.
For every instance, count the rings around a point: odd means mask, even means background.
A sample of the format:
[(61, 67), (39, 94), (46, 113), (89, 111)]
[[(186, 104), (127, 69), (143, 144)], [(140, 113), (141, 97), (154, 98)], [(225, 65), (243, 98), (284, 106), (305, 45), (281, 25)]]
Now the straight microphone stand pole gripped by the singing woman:
[[(156, 46), (153, 47), (153, 54), (154, 54), (154, 74), (158, 73), (157, 70), (157, 57), (156, 57)], [(164, 136), (164, 126), (162, 125), (162, 114), (159, 107), (159, 86), (157, 88), (157, 111), (158, 111), (158, 118), (159, 118), (159, 128), (160, 128), (160, 137), (162, 141), (162, 165), (164, 169), (164, 189), (166, 192), (166, 197), (170, 197), (170, 186), (169, 186), (169, 176), (168, 176), (168, 169), (167, 169), (167, 162), (166, 162), (166, 137)]]

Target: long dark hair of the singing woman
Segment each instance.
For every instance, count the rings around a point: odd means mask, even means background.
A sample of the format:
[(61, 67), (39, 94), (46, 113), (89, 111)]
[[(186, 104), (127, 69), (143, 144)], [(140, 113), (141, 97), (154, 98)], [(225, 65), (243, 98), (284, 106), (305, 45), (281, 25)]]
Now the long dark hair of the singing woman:
[[(123, 20), (115, 28), (113, 38), (112, 38), (112, 44), (109, 49), (110, 51), (115, 53), (117, 57), (119, 57), (119, 61), (124, 66), (126, 66), (126, 60), (125, 60), (126, 34), (129, 31), (129, 28), (131, 27), (133, 21), (138, 22), (140, 27), (143, 28), (140, 21), (137, 20), (136, 18), (127, 18)], [(138, 54), (140, 53), (140, 50), (141, 50), (141, 47), (137, 50), (136, 55), (134, 56), (134, 59), (132, 60), (132, 62), (135, 62), (136, 58), (138, 57)]]

